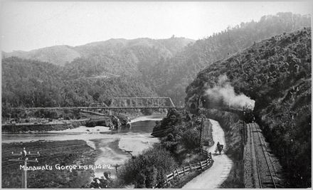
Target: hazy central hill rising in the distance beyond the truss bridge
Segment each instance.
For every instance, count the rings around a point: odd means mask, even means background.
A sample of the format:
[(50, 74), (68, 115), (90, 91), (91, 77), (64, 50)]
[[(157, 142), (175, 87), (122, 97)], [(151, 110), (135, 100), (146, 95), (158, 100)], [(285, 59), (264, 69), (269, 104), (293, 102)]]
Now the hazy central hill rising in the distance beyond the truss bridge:
[(193, 43), (193, 40), (175, 37), (161, 40), (110, 39), (88, 43), (75, 47), (82, 56), (65, 67), (77, 68), (82, 63), (83, 67), (94, 70), (93, 75), (105, 71), (116, 75), (142, 76), (144, 70), (149, 70), (159, 59), (173, 57), (189, 43)]

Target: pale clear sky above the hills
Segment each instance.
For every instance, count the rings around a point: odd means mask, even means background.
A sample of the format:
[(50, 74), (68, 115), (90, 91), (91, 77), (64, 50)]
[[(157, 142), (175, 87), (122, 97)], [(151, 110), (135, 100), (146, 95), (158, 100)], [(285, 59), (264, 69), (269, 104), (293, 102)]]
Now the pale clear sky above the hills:
[(1, 48), (30, 51), (78, 46), (110, 38), (205, 38), (242, 21), (291, 11), (311, 14), (298, 2), (16, 1), (1, 5)]

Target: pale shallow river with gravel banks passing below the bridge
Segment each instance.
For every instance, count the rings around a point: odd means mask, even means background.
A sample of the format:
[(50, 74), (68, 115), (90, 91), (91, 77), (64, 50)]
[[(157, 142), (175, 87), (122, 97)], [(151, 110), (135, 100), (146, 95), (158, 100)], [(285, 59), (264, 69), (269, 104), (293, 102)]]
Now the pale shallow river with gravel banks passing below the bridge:
[[(93, 149), (99, 150), (95, 164), (110, 164), (110, 169), (95, 169), (95, 176), (102, 176), (104, 171), (109, 170), (115, 177), (114, 165), (123, 164), (132, 155), (137, 155), (144, 149), (152, 147), (159, 139), (152, 137), (151, 133), (156, 121), (166, 115), (149, 115), (137, 117), (131, 121), (132, 127), (124, 127), (118, 131), (111, 131), (109, 127), (85, 127), (62, 131), (51, 131), (39, 134), (2, 134), (2, 143), (32, 142), (37, 140), (70, 140), (83, 139)], [(132, 151), (127, 153), (125, 151)], [(132, 154), (132, 155), (131, 155)]]

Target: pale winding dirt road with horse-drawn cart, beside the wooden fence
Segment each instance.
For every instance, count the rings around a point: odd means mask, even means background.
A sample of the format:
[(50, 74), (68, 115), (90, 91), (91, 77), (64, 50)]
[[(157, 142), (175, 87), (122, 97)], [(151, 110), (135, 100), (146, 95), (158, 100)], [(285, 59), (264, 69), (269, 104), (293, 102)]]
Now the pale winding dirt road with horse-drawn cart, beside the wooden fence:
[(218, 122), (215, 120), (210, 120), (212, 123), (212, 135), (214, 140), (214, 145), (208, 148), (208, 152), (212, 153), (214, 163), (211, 168), (203, 171), (202, 174), (193, 178), (189, 183), (183, 186), (184, 189), (213, 189), (218, 188), (219, 185), (227, 178), (230, 173), (231, 167), (233, 167), (233, 162), (226, 154), (215, 154), (216, 144), (224, 144), (226, 147), (225, 134)]

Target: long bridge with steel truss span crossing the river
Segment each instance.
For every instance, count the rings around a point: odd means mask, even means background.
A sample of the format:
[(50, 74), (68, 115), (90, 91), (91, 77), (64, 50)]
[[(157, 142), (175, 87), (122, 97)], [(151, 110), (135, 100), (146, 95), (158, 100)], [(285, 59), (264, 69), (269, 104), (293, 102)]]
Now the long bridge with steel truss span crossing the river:
[(85, 107), (11, 107), (18, 110), (118, 110), (118, 109), (165, 109), (174, 108), (170, 97), (113, 97), (111, 105), (92, 105)]

